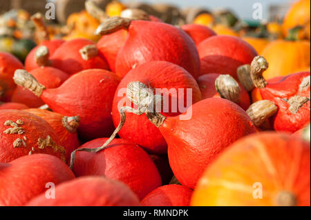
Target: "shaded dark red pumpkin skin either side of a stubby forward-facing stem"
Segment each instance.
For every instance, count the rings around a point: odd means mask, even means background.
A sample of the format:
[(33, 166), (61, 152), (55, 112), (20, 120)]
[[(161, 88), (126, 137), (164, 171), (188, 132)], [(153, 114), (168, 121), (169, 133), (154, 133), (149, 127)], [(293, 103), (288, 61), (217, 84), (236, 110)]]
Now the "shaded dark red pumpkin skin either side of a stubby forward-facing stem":
[[(201, 90), (202, 94), (202, 99), (208, 99), (212, 97), (219, 97), (220, 94), (217, 92), (216, 87), (215, 87), (215, 81), (216, 78), (219, 77), (220, 74), (217, 73), (210, 73), (210, 74), (204, 74), (200, 77), (198, 77), (198, 85)], [(238, 106), (241, 106), (245, 111), (247, 108), (250, 106), (251, 101), (248, 92), (241, 86), (240, 83), (238, 83), (241, 88), (241, 98), (240, 102), (238, 103)]]

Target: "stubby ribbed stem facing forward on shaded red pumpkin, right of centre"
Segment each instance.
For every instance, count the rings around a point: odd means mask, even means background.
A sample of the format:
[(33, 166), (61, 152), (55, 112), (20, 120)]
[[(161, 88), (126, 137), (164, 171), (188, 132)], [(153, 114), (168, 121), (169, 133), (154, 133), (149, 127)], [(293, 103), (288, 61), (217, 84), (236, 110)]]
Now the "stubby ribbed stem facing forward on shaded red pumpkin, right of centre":
[(215, 87), (223, 99), (239, 103), (241, 99), (241, 88), (236, 80), (229, 74), (221, 74), (215, 81)]

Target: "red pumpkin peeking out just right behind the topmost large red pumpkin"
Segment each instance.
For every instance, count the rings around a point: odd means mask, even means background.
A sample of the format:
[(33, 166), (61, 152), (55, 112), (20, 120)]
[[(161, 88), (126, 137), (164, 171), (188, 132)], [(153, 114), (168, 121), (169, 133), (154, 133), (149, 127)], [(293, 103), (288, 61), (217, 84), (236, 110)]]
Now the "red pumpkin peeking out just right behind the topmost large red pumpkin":
[(180, 28), (184, 30), (191, 37), (191, 39), (194, 40), (196, 46), (198, 46), (198, 44), (205, 39), (217, 35), (214, 30), (211, 30), (211, 28), (208, 28), (207, 26), (201, 26), (195, 23), (185, 24)]

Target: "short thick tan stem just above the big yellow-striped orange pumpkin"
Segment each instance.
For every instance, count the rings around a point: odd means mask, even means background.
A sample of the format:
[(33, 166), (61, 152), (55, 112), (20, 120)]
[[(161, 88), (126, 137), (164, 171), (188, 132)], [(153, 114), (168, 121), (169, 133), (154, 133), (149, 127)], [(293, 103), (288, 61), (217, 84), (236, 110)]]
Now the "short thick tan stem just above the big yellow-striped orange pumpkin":
[(269, 100), (261, 100), (253, 103), (246, 110), (249, 118), (252, 119), (255, 126), (259, 127), (261, 124), (272, 117), (278, 110), (278, 107)]

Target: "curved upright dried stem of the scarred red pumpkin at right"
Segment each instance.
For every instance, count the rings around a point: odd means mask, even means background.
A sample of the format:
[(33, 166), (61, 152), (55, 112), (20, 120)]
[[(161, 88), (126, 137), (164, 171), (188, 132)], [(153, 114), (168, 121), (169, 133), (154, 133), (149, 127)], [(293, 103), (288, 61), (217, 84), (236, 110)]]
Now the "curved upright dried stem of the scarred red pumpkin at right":
[(257, 56), (251, 63), (251, 78), (256, 88), (262, 89), (267, 86), (267, 81), (263, 78), (263, 72), (267, 70), (269, 64), (265, 60), (265, 57)]

